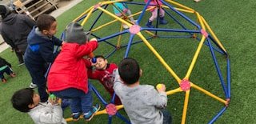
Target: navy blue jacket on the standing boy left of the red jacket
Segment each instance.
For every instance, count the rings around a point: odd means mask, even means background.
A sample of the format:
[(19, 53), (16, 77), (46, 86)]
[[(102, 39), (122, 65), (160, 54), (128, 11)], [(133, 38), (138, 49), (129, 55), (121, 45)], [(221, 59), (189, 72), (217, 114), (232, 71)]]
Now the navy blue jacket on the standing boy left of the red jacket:
[(28, 46), (24, 55), (26, 65), (42, 67), (46, 63), (54, 62), (58, 53), (54, 52), (54, 45), (62, 46), (62, 41), (56, 37), (49, 38), (38, 30), (36, 26), (27, 38)]

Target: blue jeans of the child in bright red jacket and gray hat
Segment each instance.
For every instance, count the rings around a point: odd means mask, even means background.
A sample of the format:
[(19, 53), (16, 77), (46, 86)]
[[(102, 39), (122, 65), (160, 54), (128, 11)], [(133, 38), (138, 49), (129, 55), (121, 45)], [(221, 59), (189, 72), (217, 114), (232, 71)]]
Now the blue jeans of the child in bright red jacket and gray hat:
[(52, 92), (58, 98), (70, 98), (70, 108), (72, 113), (82, 112), (88, 113), (92, 108), (93, 97), (91, 94), (92, 90), (88, 86), (87, 94), (82, 90), (75, 88), (69, 88), (66, 90)]

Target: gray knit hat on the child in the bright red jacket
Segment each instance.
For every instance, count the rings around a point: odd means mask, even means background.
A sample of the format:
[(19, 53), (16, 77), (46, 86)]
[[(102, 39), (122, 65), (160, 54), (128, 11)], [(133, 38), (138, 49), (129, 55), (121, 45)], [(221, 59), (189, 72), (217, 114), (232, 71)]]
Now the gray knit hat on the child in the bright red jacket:
[(76, 42), (82, 45), (88, 41), (89, 36), (90, 32), (84, 32), (83, 27), (76, 22), (71, 22), (66, 27), (66, 42)]

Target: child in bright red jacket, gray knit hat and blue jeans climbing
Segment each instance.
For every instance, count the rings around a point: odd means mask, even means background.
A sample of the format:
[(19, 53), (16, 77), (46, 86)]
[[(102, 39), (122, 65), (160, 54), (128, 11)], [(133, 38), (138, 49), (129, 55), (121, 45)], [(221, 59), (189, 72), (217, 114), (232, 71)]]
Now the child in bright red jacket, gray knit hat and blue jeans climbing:
[(92, 106), (92, 90), (88, 86), (87, 67), (90, 62), (83, 57), (97, 47), (96, 38), (89, 42), (83, 27), (72, 22), (66, 28), (66, 39), (62, 50), (55, 59), (48, 75), (48, 90), (58, 98), (70, 98), (72, 118), (76, 121), (80, 114), (86, 121), (96, 114), (100, 106)]

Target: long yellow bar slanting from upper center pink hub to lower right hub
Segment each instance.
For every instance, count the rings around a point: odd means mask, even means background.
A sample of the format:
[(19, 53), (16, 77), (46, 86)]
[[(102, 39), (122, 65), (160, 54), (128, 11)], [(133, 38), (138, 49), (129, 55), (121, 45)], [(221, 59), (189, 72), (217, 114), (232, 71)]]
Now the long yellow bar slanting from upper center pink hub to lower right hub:
[(158, 58), (158, 60), (162, 63), (163, 66), (166, 67), (166, 70), (168, 70), (170, 72), (171, 75), (174, 76), (174, 78), (176, 79), (176, 81), (178, 83), (181, 82), (181, 79), (178, 78), (178, 75), (174, 73), (174, 70), (172, 70), (170, 68), (170, 66), (167, 65), (167, 63), (165, 62), (165, 60), (160, 56), (160, 54), (158, 54), (158, 52), (156, 50), (154, 50), (154, 47), (150, 45), (150, 42), (147, 42), (146, 38), (144, 38), (144, 36), (142, 35), (141, 32), (139, 32), (138, 37), (142, 38), (142, 41), (146, 44), (146, 46), (153, 52), (153, 54)]

